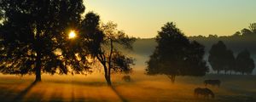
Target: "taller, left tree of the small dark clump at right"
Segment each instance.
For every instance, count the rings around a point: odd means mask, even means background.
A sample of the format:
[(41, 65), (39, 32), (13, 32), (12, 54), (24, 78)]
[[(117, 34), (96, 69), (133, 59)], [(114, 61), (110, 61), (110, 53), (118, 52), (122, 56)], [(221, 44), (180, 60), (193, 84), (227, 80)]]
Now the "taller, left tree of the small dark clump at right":
[(212, 70), (217, 71), (230, 71), (234, 65), (235, 57), (231, 50), (227, 49), (222, 41), (213, 44), (209, 51), (208, 61), (212, 65)]

